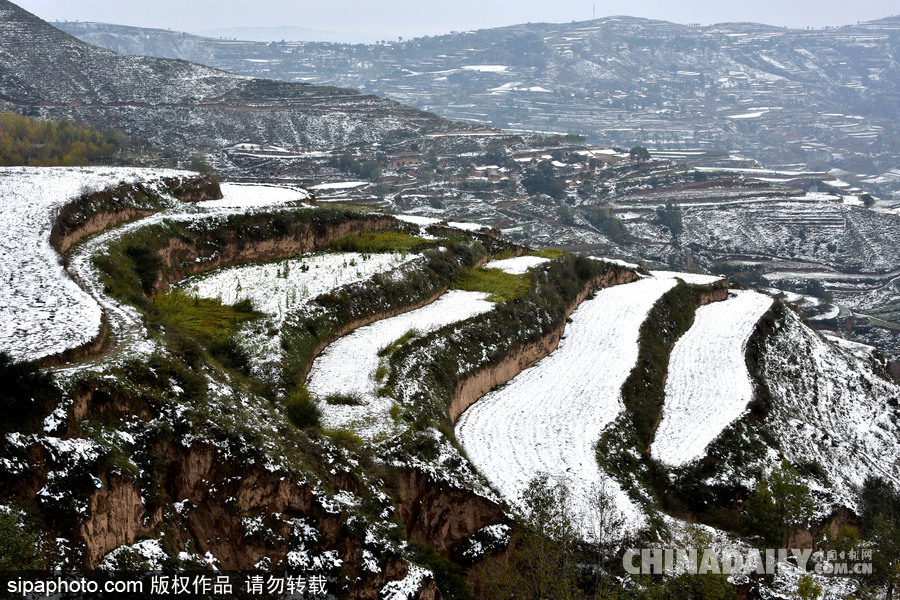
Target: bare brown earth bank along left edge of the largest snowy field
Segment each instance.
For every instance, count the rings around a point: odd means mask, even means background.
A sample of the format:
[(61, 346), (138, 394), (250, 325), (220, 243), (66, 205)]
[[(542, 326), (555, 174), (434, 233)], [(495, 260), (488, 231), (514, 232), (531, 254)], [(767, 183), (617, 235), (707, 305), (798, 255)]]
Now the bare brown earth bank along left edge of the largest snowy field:
[[(566, 308), (566, 319), (575, 312), (575, 309), (578, 308), (578, 305), (580, 305), (585, 298), (596, 290), (622, 283), (629, 283), (636, 280), (637, 277), (638, 276), (634, 271), (614, 269), (608, 271), (604, 275), (591, 279), (584, 285), (575, 301)], [(537, 342), (522, 344), (514, 348), (505, 359), (497, 364), (487, 366), (462, 379), (457, 384), (456, 392), (450, 402), (450, 419), (453, 422), (456, 422), (456, 419), (459, 418), (472, 403), (491, 389), (506, 383), (556, 350), (557, 346), (559, 346), (559, 341), (562, 339), (563, 333), (565, 333), (565, 329), (566, 323), (563, 321), (556, 329)]]

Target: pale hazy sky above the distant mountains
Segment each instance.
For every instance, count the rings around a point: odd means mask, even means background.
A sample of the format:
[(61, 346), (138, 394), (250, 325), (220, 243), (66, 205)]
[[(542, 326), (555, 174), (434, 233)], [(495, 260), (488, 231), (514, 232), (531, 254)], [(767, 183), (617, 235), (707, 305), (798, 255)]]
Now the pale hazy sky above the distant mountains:
[[(404, 38), (525, 22), (630, 15), (676, 23), (847, 25), (900, 12), (897, 0), (13, 0), (47, 21), (100, 21), (199, 32), (306, 27)], [(594, 8), (596, 7), (596, 9)]]

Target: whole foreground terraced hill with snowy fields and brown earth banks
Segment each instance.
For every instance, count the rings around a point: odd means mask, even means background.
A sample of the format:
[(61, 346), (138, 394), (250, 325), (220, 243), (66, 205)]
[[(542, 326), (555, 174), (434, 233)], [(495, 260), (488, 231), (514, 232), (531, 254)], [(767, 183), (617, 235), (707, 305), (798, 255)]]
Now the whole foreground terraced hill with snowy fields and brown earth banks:
[[(23, 264), (55, 264), (50, 232), (68, 224), (55, 285), (74, 279), (75, 310), (99, 307), (108, 329), (77, 355), (81, 339), (54, 345), (50, 377), (0, 364), (21, 388), (0, 446), (13, 566), (312, 569), (367, 598), (466, 589), (450, 560), (491, 597), (479, 573), (497, 552), (525, 564), (544, 474), (576, 537), (678, 544), (699, 520), (722, 549), (752, 543), (743, 509), (781, 459), (814, 508), (796, 535), (860, 511), (873, 477), (900, 485), (900, 386), (870, 349), (718, 277), (183, 172), (0, 175), (56, 191), (15, 197), (51, 225)], [(0, 350), (66, 339), (40, 325)], [(727, 415), (722, 369), (752, 382)], [(618, 524), (598, 529), (598, 506)]]

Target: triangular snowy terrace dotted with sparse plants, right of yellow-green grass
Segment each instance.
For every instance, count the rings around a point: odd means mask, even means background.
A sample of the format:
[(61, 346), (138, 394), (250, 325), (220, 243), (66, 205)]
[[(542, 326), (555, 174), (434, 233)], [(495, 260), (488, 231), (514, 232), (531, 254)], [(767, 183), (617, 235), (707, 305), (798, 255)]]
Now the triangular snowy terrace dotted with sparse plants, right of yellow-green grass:
[(416, 254), (359, 254), (336, 252), (301, 256), (267, 264), (220, 269), (180, 284), (191, 295), (217, 298), (224, 304), (249, 299), (254, 308), (282, 317), (289, 309), (329, 290), (369, 279)]

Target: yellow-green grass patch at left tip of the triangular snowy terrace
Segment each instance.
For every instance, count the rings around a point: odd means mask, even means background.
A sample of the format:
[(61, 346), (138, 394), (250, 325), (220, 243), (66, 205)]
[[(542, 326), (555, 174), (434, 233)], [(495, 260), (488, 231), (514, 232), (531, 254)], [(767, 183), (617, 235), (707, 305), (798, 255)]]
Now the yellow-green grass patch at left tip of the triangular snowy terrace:
[(261, 316), (249, 301), (229, 306), (220, 300), (188, 296), (179, 289), (157, 294), (153, 305), (165, 321), (208, 342), (224, 342), (237, 333), (242, 324)]

